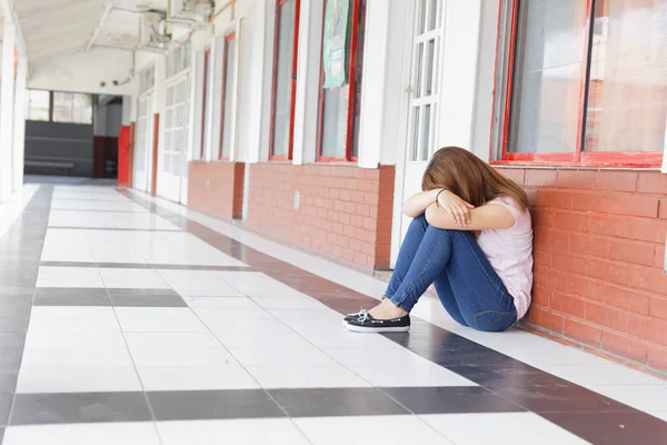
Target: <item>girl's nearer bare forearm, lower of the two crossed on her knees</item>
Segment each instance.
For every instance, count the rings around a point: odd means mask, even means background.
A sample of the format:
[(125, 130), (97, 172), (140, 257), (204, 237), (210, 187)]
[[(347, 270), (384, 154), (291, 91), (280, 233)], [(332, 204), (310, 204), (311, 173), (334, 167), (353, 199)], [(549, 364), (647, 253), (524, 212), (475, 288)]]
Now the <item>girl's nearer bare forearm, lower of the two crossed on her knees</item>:
[(451, 230), (510, 229), (515, 225), (514, 215), (507, 208), (495, 204), (471, 209), (470, 221), (466, 226), (457, 222), (444, 208), (431, 204), (426, 209), (426, 220), (439, 229)]

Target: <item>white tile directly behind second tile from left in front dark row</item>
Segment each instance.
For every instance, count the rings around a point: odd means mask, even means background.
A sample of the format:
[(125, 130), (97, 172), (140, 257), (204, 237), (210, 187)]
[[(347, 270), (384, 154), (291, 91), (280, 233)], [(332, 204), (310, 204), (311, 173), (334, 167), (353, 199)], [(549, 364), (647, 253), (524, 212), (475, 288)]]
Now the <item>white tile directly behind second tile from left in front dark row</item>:
[(226, 367), (138, 368), (146, 390), (257, 389), (259, 384), (238, 365)]

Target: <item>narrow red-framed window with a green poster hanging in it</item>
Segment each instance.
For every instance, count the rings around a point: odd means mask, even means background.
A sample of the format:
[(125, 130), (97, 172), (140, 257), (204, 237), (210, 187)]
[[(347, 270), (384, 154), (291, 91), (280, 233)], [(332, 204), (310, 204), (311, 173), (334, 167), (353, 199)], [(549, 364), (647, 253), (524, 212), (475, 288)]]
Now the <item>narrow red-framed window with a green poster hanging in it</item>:
[[(349, 4), (344, 4), (347, 1)], [(337, 48), (327, 38), (322, 39), (322, 70), (319, 105), (318, 160), (356, 160), (359, 152), (359, 113), (361, 105), (361, 72), (364, 59), (364, 36), (366, 29), (366, 0), (327, 0), (325, 18), (331, 11), (348, 8), (345, 59), (341, 63), (345, 81), (341, 86), (326, 83), (325, 58), (334, 60)], [(328, 11), (328, 12), (327, 12)], [(335, 27), (325, 19), (322, 34), (330, 34)], [(331, 39), (334, 40), (334, 39)]]

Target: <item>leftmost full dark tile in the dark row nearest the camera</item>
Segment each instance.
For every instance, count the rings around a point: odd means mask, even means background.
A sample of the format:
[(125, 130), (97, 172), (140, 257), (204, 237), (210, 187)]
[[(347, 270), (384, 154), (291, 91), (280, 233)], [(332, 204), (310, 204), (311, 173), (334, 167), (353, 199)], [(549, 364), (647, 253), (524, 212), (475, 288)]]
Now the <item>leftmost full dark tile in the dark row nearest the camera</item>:
[(142, 393), (17, 394), (10, 425), (148, 421)]

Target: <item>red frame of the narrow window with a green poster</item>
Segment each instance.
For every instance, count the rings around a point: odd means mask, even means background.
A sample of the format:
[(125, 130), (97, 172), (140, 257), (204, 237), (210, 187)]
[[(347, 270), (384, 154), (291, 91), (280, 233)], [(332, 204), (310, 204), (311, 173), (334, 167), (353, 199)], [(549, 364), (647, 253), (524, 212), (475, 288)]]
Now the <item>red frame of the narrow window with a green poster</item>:
[[(325, 13), (327, 10), (327, 2), (325, 0)], [(356, 92), (357, 92), (357, 58), (359, 55), (359, 14), (361, 13), (361, 0), (351, 0), (352, 2), (352, 18), (351, 18), (351, 32), (350, 32), (350, 65), (348, 67), (348, 111), (347, 111), (347, 140), (345, 144), (345, 157), (336, 158), (332, 156), (322, 156), (322, 130), (325, 126), (325, 63), (323, 63), (323, 51), (320, 51), (320, 89), (319, 89), (319, 103), (318, 103), (318, 118), (317, 118), (317, 161), (318, 162), (357, 162), (358, 157), (352, 156), (352, 145), (355, 138), (355, 106), (356, 106)], [(368, 8), (368, 6), (367, 6)], [(323, 36), (323, 20), (322, 20), (322, 36)], [(323, 46), (323, 42), (322, 42)]]

